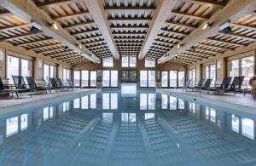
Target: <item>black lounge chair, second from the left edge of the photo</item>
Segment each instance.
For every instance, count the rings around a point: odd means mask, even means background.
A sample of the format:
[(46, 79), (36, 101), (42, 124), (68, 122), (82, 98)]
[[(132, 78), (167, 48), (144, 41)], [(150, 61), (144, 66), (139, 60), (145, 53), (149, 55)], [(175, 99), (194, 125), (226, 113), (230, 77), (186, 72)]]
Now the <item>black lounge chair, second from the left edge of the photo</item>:
[(32, 89), (30, 89), (29, 86), (25, 83), (24, 77), (22, 76), (12, 76), (12, 77), (15, 83), (15, 89), (20, 89), (20, 93), (29, 93), (32, 97)]

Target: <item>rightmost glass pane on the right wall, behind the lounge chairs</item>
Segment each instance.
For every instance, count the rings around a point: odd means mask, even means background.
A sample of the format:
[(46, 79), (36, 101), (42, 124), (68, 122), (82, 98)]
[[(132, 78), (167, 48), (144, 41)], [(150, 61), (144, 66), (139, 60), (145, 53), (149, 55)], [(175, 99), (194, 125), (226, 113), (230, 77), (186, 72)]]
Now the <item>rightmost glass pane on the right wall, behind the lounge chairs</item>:
[(244, 84), (249, 86), (249, 80), (253, 77), (253, 64), (254, 59), (253, 56), (249, 56), (241, 59), (241, 76), (244, 77)]

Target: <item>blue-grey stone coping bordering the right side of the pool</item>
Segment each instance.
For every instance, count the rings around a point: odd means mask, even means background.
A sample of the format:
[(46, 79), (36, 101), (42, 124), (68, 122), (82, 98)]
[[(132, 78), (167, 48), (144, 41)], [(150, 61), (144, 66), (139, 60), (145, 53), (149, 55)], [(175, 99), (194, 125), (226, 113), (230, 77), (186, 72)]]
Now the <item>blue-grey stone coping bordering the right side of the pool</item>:
[(198, 96), (196, 94), (184, 94), (183, 92), (173, 91), (170, 89), (156, 89), (156, 92), (162, 93), (162, 94), (174, 94), (177, 97), (181, 98), (189, 98), (190, 100), (196, 100), (201, 103), (206, 103), (210, 106), (220, 106), (229, 109), (230, 111), (239, 111), (241, 113), (247, 113), (247, 114), (253, 114), (256, 115), (256, 108), (253, 106), (242, 106), (236, 103), (231, 103), (228, 101), (221, 101), (221, 100), (212, 100), (207, 99), (202, 96)]

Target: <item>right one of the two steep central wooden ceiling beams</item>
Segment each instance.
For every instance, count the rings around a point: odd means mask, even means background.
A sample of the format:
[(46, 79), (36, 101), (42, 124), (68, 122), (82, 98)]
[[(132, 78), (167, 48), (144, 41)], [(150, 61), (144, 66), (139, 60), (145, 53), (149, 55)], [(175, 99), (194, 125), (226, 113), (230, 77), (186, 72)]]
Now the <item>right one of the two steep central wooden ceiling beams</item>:
[(140, 60), (147, 54), (148, 49), (150, 49), (151, 44), (154, 43), (154, 38), (157, 37), (161, 27), (165, 26), (166, 20), (176, 3), (177, 0), (160, 0), (159, 3), (157, 3), (154, 16), (150, 21), (147, 36), (145, 37), (143, 47), (139, 53)]

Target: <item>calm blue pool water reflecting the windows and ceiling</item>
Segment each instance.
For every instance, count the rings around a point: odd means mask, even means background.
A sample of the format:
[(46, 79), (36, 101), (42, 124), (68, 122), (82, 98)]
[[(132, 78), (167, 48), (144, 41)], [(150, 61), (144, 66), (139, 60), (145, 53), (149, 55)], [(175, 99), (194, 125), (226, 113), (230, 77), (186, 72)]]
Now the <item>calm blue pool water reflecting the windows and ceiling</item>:
[(1, 115), (0, 165), (251, 166), (255, 119), (154, 90), (105, 89)]

